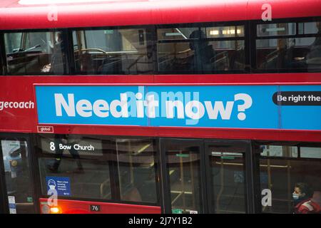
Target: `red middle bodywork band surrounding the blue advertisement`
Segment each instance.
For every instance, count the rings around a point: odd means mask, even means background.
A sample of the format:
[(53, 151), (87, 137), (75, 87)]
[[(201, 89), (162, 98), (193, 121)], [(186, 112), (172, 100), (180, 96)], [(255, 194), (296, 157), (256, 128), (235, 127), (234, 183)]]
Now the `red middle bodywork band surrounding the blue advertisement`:
[[(164, 78), (163, 78), (164, 77)], [(321, 85), (321, 73), (185, 75), (185, 76), (0, 76), (0, 101), (29, 101), (33, 109), (0, 110), (0, 131), (38, 133), (35, 84), (104, 85)], [(46, 124), (46, 126), (48, 126)], [(321, 142), (318, 130), (263, 130), (237, 128), (173, 128), (101, 125), (49, 125), (54, 133), (92, 135), (136, 135), (176, 138), (293, 140)]]

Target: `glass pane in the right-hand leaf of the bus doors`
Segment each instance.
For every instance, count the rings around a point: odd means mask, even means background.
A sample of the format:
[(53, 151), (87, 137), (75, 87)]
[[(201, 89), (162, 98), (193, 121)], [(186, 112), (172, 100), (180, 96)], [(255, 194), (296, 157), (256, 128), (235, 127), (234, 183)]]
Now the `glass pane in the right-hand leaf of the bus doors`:
[(245, 213), (245, 147), (209, 145), (208, 150), (215, 213)]

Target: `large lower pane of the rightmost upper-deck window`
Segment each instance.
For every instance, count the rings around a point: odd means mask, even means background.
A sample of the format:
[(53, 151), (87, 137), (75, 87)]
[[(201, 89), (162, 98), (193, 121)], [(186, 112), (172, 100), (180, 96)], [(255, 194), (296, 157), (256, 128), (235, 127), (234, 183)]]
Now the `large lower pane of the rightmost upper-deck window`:
[(257, 40), (256, 48), (259, 69), (321, 71), (321, 37)]

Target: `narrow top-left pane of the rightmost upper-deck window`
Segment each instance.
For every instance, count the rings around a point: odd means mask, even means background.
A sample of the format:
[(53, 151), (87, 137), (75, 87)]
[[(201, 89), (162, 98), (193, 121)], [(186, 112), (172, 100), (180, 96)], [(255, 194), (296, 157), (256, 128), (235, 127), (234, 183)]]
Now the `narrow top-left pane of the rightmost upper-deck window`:
[(295, 23), (258, 24), (258, 36), (285, 36), (295, 35)]

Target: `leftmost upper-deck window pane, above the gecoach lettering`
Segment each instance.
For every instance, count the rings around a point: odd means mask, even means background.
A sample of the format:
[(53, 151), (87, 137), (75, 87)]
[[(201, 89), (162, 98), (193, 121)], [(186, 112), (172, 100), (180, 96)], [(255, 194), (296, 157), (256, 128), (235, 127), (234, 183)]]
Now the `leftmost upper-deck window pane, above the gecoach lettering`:
[(4, 33), (11, 75), (68, 73), (66, 37), (61, 31)]

